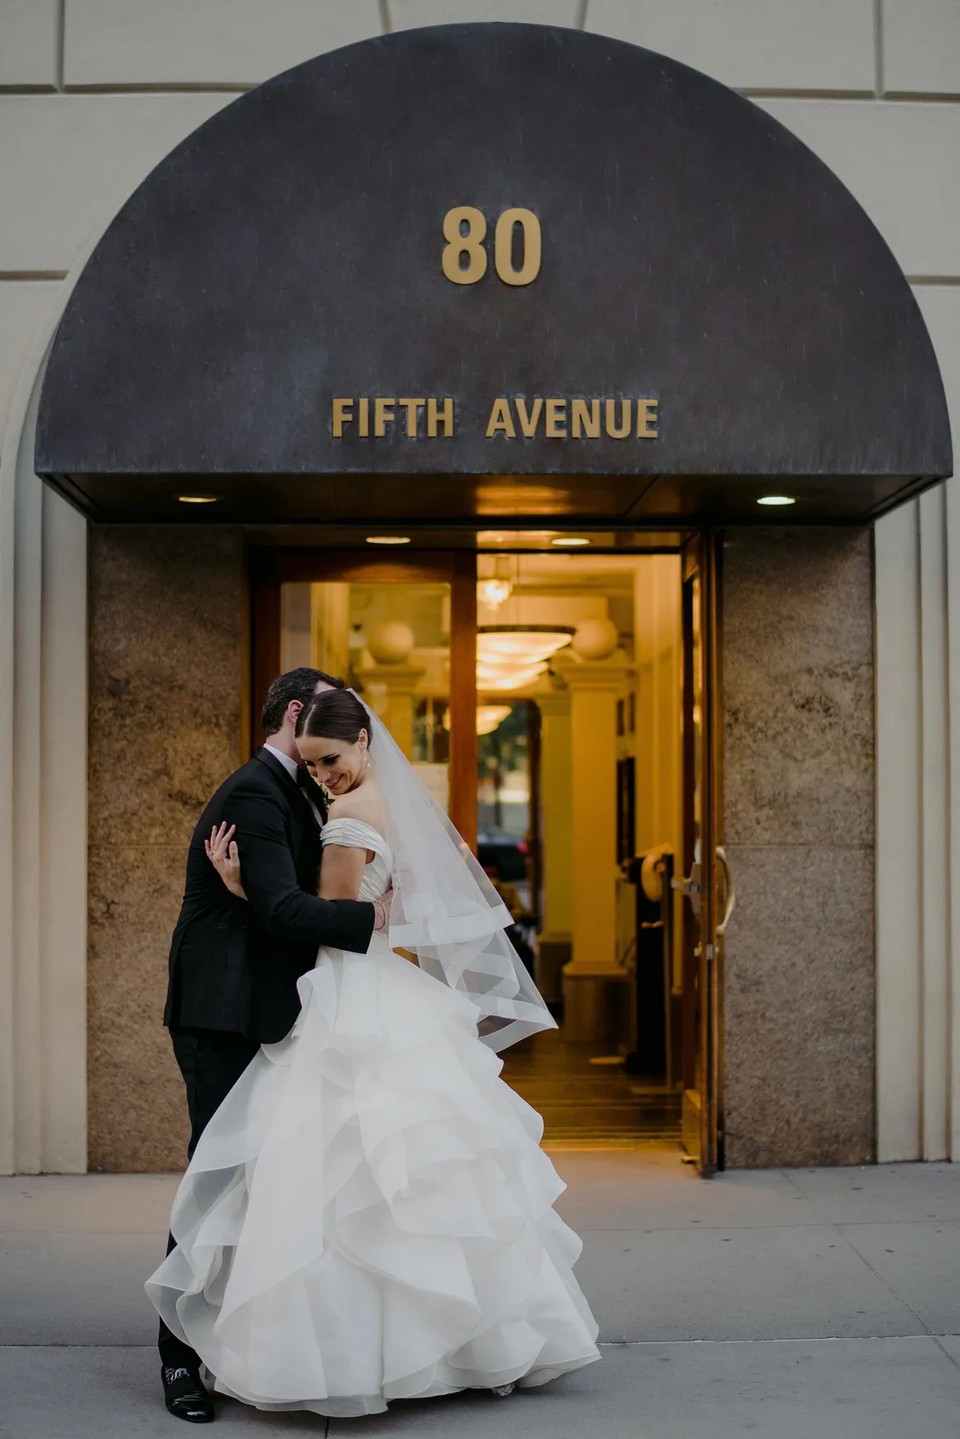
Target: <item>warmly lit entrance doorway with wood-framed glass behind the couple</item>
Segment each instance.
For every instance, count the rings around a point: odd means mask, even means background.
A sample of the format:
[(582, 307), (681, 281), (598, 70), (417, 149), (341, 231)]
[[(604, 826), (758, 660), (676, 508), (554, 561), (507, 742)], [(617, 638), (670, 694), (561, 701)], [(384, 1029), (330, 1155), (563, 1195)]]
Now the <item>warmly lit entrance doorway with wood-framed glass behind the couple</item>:
[(712, 545), (376, 538), (399, 543), (252, 553), (252, 714), (282, 669), (343, 675), (475, 848), (558, 1022), (504, 1066), (544, 1143), (711, 1173)]

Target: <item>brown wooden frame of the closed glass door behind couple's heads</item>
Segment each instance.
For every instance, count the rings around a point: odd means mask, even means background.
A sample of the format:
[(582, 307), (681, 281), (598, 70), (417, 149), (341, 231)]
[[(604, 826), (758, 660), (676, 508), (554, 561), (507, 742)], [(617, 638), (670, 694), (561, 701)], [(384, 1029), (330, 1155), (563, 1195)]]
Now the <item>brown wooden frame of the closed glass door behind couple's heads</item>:
[[(259, 709), (281, 669), (281, 586), (324, 580), (363, 584), (450, 586), (450, 819), (476, 848), (476, 554), (472, 550), (410, 551), (272, 548), (248, 554), (250, 665), (248, 728), (259, 737)], [(256, 743), (256, 740), (255, 740)]]

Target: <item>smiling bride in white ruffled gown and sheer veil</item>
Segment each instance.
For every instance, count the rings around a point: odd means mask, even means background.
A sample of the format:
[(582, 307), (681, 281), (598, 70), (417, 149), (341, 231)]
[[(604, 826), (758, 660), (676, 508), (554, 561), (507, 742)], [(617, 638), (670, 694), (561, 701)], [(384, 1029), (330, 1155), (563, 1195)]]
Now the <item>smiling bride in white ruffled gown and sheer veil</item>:
[[(301, 977), (292, 1030), (196, 1148), (147, 1292), (216, 1389), (258, 1409), (351, 1417), (543, 1384), (600, 1357), (543, 1121), (499, 1079), (497, 1050), (554, 1022), (381, 721), (327, 691), (296, 743), (334, 797), (320, 892), (393, 884), (390, 932), (321, 948)], [(243, 895), (230, 832), (210, 856)]]

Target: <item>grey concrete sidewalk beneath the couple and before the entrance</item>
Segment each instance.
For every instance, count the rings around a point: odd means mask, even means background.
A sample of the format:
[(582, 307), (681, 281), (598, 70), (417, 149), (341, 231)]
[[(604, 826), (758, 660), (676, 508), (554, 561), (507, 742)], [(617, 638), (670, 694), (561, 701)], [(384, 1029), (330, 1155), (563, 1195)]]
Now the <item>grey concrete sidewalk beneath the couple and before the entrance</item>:
[[(960, 1166), (740, 1170), (675, 1151), (557, 1153), (603, 1363), (498, 1400), (367, 1420), (220, 1402), (216, 1435), (951, 1439), (960, 1432)], [(176, 1176), (0, 1180), (3, 1439), (183, 1436), (142, 1281)]]

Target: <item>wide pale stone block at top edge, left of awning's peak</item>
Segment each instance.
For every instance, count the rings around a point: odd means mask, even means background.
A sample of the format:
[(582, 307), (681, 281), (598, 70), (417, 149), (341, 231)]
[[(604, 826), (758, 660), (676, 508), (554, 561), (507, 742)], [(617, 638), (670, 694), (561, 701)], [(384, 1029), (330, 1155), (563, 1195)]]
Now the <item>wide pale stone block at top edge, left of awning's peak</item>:
[(66, 0), (71, 85), (259, 85), (380, 35), (377, 0)]

